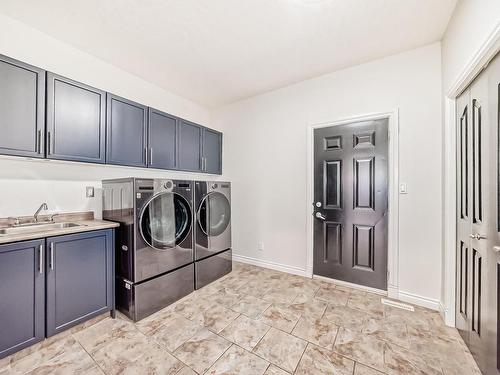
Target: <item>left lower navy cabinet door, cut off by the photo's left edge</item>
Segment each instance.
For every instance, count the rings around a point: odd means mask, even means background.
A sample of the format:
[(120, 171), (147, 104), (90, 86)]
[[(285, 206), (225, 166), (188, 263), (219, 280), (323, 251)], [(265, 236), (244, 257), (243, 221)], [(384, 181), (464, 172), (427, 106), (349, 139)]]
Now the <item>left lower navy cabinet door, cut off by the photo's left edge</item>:
[(45, 240), (0, 245), (0, 358), (45, 336)]

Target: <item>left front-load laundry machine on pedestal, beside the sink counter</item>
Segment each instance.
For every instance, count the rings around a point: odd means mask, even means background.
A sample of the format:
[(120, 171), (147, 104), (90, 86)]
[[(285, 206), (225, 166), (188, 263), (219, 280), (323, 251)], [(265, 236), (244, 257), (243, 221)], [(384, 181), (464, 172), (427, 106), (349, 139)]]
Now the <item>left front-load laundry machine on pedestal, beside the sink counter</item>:
[(194, 290), (193, 182), (103, 181), (103, 218), (116, 233), (116, 305), (134, 321)]

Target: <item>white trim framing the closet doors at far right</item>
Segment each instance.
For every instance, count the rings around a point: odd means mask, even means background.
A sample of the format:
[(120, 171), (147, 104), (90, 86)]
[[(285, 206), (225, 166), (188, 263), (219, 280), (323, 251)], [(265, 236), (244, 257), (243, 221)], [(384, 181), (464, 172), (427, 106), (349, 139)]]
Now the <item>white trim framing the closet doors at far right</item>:
[(456, 98), (469, 86), (474, 78), (500, 52), (500, 25), (490, 34), (486, 42), (472, 57), (458, 79), (444, 97), (444, 237), (443, 237), (443, 301), (440, 310), (447, 325), (455, 326), (455, 273), (456, 273), (456, 196), (457, 196), (457, 123)]

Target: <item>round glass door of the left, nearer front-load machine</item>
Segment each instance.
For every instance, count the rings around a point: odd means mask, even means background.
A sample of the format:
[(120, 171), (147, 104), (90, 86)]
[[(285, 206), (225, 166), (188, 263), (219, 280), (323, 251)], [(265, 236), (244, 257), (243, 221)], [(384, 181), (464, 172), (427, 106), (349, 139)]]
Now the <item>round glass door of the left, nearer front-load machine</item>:
[(149, 246), (172, 248), (186, 238), (191, 228), (189, 203), (176, 193), (158, 194), (146, 204), (140, 225)]

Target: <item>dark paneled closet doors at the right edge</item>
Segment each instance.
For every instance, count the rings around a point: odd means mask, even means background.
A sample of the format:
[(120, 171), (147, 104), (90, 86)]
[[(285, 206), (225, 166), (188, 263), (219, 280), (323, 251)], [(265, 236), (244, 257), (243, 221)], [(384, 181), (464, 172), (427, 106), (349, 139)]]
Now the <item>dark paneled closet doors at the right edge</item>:
[(485, 374), (498, 374), (500, 58), (457, 98), (456, 327)]

